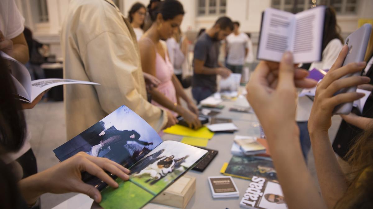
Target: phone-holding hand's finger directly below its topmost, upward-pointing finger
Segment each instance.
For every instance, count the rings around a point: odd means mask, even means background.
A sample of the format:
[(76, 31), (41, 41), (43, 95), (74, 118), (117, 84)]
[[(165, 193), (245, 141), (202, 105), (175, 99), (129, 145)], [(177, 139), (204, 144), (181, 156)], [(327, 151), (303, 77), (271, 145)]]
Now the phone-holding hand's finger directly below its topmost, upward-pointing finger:
[(352, 62), (341, 68), (335, 69), (332, 72), (328, 72), (318, 86), (319, 89), (326, 89), (331, 83), (345, 75), (352, 74), (363, 70), (366, 66), (366, 62)]

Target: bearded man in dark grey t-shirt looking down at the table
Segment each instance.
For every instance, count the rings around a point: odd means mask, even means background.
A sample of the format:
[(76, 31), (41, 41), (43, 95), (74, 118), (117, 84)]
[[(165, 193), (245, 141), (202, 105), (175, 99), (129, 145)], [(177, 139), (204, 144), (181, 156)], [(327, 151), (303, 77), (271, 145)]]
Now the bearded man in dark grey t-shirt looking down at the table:
[(197, 103), (216, 92), (216, 75), (226, 78), (231, 74), (231, 70), (220, 64), (218, 58), (220, 41), (232, 31), (232, 20), (229, 17), (220, 17), (195, 43), (192, 94)]

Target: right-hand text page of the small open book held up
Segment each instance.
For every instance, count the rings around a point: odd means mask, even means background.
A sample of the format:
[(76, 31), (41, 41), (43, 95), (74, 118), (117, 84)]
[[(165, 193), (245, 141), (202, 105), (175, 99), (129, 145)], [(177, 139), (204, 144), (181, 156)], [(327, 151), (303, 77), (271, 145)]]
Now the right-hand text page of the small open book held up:
[(323, 6), (317, 6), (295, 15), (292, 44), (295, 63), (321, 60), (324, 16), (325, 7)]

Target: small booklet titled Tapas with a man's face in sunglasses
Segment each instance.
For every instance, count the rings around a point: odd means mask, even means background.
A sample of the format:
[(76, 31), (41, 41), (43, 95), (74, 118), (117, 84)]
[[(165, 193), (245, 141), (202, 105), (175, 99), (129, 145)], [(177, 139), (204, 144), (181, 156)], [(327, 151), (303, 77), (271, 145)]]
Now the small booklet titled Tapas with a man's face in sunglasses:
[(287, 209), (285, 197), (278, 181), (253, 176), (239, 203), (249, 209)]

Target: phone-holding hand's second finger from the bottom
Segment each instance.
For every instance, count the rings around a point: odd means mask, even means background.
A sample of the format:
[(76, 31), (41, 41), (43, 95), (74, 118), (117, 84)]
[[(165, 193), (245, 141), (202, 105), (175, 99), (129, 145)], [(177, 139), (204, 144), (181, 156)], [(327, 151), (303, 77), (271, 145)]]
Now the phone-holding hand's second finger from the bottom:
[(369, 83), (369, 81), (370, 81), (370, 78), (366, 76), (351, 76), (351, 77), (344, 78), (344, 79), (338, 79), (326, 88), (325, 96), (330, 97), (334, 93), (336, 93), (337, 91), (343, 88), (347, 88), (351, 86), (358, 86), (360, 84), (366, 84), (366, 83)]

